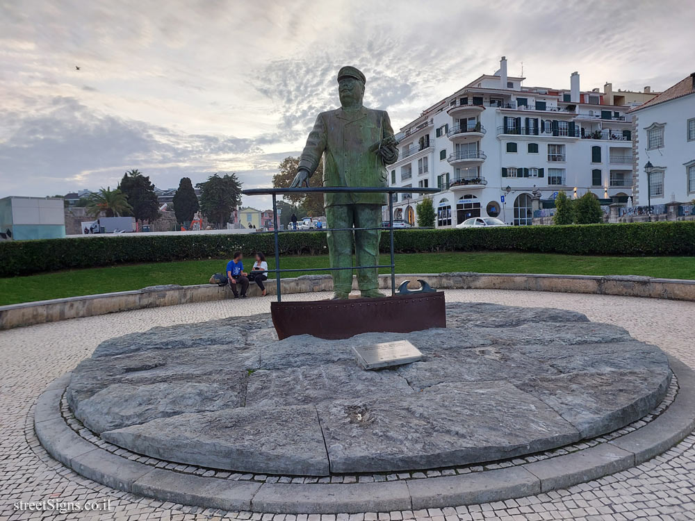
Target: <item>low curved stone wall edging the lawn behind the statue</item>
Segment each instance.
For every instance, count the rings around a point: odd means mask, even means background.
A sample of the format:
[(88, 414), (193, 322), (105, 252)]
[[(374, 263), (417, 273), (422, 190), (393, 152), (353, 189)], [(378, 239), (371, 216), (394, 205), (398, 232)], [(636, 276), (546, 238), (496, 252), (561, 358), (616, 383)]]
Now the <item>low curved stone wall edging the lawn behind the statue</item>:
[[(379, 275), (379, 288), (391, 288), (391, 276)], [(441, 290), (524, 290), (566, 293), (593, 293), (596, 295), (621, 295), (625, 297), (652, 297), (695, 301), (695, 280), (653, 279), (633, 275), (553, 275), (553, 274), (505, 274), (453, 272), (439, 274), (398, 274), (396, 285), (410, 280), (414, 288), (417, 279), (423, 279)], [(268, 284), (268, 294), (275, 295), (275, 284)], [(357, 289), (355, 283), (354, 289)], [(283, 293), (332, 291), (329, 275), (304, 275), (296, 279), (282, 279)], [(258, 295), (258, 288), (249, 288), (250, 296)], [(142, 290), (101, 293), (83, 297), (42, 300), (0, 306), (0, 330), (19, 326), (31, 326), (56, 322), (69, 318), (91, 317), (131, 311), (133, 309), (174, 306), (224, 300), (231, 297), (227, 288), (213, 284), (197, 286), (152, 286)]]

